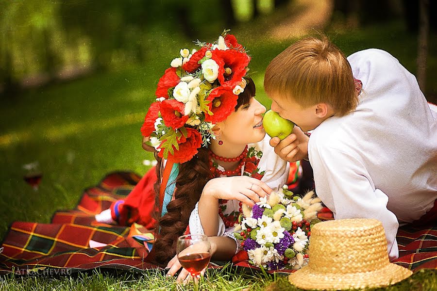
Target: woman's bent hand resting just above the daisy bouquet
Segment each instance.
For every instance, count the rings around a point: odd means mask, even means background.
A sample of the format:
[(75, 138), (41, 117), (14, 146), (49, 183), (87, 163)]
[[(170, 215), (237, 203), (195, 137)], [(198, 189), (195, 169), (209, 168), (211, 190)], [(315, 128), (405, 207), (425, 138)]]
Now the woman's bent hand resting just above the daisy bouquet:
[(203, 188), (205, 194), (212, 195), (215, 199), (236, 199), (250, 207), (271, 191), (266, 183), (247, 176), (214, 178)]

